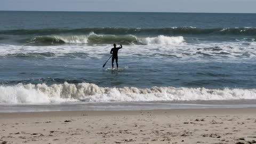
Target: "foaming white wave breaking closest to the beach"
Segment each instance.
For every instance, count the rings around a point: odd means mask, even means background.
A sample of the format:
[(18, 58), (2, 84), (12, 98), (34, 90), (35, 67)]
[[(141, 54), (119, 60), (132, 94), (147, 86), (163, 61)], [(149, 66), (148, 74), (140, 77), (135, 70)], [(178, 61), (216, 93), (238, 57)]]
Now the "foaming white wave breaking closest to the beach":
[(256, 99), (256, 89), (205, 89), (186, 87), (100, 87), (91, 83), (17, 84), (0, 86), (0, 103), (175, 101)]

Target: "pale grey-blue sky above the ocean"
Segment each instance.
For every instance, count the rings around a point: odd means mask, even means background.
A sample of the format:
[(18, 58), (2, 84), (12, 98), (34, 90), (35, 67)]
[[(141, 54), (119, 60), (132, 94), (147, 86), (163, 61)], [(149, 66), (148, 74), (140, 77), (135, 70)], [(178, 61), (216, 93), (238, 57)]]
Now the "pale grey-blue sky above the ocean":
[(256, 13), (256, 0), (0, 0), (0, 11)]

